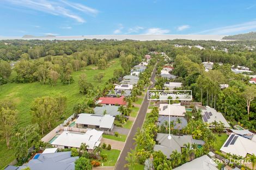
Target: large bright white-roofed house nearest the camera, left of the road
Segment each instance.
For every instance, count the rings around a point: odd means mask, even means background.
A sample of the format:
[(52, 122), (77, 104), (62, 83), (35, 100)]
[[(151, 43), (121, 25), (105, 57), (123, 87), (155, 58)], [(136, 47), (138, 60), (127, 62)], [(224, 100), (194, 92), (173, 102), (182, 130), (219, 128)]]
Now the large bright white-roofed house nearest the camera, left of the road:
[(95, 129), (87, 130), (86, 133), (77, 133), (72, 131), (63, 131), (54, 141), (52, 146), (60, 149), (80, 148), (81, 143), (86, 143), (89, 150), (93, 150), (95, 146), (100, 146), (103, 131)]

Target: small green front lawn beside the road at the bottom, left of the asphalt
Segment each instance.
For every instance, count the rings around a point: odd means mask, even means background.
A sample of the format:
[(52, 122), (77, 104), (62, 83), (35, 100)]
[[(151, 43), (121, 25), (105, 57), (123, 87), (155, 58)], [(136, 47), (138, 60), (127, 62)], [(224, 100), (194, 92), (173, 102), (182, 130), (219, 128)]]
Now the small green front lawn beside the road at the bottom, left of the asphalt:
[(118, 156), (120, 154), (120, 150), (112, 149), (112, 150), (102, 150), (102, 154), (107, 154), (107, 161), (103, 162), (101, 161), (101, 165), (103, 163), (103, 166), (115, 166), (115, 163), (117, 162)]

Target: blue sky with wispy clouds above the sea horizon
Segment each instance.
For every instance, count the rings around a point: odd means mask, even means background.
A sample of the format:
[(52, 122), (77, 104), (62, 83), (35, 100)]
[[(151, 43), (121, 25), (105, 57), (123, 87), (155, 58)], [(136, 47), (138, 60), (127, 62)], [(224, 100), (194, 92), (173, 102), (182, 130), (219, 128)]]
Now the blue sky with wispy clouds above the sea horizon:
[(256, 1), (0, 0), (0, 36), (234, 35), (256, 31)]

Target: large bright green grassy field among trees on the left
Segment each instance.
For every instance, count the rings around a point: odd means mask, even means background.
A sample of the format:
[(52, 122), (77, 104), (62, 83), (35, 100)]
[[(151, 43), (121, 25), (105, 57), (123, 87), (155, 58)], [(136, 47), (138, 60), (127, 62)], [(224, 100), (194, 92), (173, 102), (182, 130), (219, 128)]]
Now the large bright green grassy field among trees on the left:
[[(18, 115), (18, 127), (24, 127), (28, 124), (31, 124), (31, 112), (30, 108), (32, 102), (36, 97), (42, 96), (57, 96), (59, 94), (66, 96), (68, 98), (67, 109), (65, 112), (65, 117), (72, 115), (73, 107), (76, 103), (83, 102), (83, 95), (79, 93), (78, 79), (82, 73), (87, 75), (87, 79), (90, 83), (96, 86), (103, 86), (105, 82), (113, 77), (114, 69), (120, 67), (119, 59), (109, 61), (109, 66), (106, 70), (95, 70), (95, 66), (87, 66), (81, 71), (73, 72), (75, 82), (70, 85), (63, 85), (60, 80), (57, 85), (51, 87), (50, 85), (41, 85), (39, 82), (35, 83), (26, 83), (26, 84), (17, 84), (17, 83), (8, 83), (0, 86), (0, 100), (1, 99), (10, 99), (13, 100), (19, 111)], [(100, 72), (105, 73), (105, 77), (102, 79), (101, 83), (94, 79), (94, 75)], [(12, 77), (15, 77), (15, 72), (12, 73)], [(58, 122), (60, 123), (60, 122)], [(0, 169), (7, 165), (9, 162), (15, 159), (14, 149), (7, 149), (4, 140), (0, 141)]]

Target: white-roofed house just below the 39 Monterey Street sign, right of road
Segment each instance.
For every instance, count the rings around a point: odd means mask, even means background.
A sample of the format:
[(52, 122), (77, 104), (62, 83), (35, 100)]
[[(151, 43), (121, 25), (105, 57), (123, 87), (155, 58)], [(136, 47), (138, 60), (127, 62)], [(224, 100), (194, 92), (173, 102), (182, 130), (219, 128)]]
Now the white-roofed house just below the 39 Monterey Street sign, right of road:
[(160, 104), (159, 115), (162, 116), (185, 116), (185, 106), (176, 104)]

